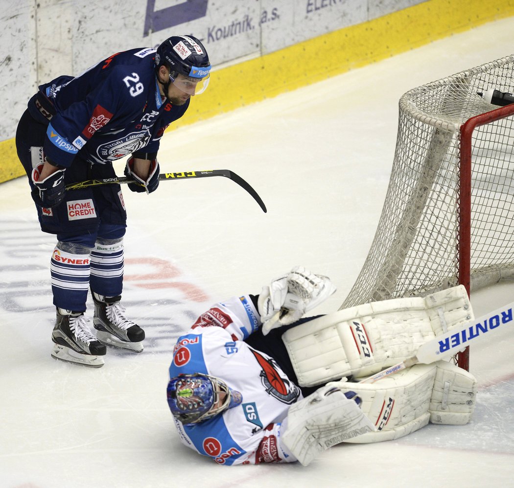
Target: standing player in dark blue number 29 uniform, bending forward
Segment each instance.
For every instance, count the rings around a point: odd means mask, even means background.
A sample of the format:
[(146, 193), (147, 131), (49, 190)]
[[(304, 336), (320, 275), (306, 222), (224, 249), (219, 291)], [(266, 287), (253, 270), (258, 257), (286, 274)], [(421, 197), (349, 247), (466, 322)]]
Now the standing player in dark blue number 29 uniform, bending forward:
[[(157, 50), (119, 52), (77, 77), (60, 76), (30, 99), (16, 149), (41, 229), (57, 236), (50, 267), (57, 309), (54, 358), (100, 367), (106, 345), (143, 350), (143, 329), (120, 305), (126, 228), (121, 187), (68, 192), (65, 187), (113, 178), (112, 162), (129, 156), (124, 172), (134, 180), (129, 189), (155, 191), (164, 130), (207, 88), (210, 68), (199, 40), (173, 36)], [(89, 289), (96, 335), (84, 316)]]

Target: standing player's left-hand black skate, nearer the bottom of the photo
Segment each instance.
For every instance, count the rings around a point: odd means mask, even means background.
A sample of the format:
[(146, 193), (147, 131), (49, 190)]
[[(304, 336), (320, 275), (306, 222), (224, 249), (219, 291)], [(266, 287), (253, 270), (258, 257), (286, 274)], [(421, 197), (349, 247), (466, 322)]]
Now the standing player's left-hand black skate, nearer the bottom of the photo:
[(89, 330), (84, 312), (57, 308), (52, 341), (53, 358), (94, 368), (104, 365), (103, 356), (107, 349)]

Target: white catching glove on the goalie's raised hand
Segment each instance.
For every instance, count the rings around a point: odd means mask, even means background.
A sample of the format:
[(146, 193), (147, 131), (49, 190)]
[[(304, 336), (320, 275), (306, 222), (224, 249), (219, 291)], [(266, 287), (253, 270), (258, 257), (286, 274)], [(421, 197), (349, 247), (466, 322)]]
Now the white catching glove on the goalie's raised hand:
[(259, 295), (258, 309), (262, 333), (296, 322), (335, 293), (330, 278), (295, 266), (290, 273), (273, 279)]

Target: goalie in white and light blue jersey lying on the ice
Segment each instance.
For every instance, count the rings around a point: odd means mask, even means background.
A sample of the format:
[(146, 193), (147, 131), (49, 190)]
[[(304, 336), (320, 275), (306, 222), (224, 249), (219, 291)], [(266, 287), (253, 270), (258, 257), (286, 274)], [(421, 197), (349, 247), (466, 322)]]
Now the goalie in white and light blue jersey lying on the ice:
[(179, 337), (168, 404), (180, 440), (219, 464), (310, 463), (340, 442), (465, 424), (476, 380), (452, 363), (359, 380), (472, 320), (464, 287), (301, 318), (334, 293), (296, 267), (260, 295), (213, 305)]

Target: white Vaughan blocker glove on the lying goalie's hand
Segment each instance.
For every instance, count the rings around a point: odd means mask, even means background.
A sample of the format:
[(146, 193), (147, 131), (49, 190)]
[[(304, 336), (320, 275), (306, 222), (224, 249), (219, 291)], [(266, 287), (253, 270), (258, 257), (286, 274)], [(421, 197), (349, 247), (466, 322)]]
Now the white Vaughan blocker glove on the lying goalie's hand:
[(328, 447), (371, 430), (373, 424), (357, 403), (326, 385), (289, 408), (280, 442), (307, 466)]

